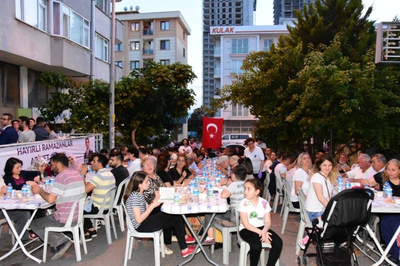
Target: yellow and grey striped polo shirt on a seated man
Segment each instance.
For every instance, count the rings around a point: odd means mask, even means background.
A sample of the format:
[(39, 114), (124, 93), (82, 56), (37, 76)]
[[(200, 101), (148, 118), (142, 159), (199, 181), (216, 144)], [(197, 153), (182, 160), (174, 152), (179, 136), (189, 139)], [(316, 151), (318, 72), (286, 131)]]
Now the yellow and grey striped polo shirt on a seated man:
[[(107, 171), (105, 168), (103, 168), (100, 169), (96, 175), (94, 175), (94, 177), (92, 177), (90, 183), (95, 186), (92, 196), (90, 196), (93, 200), (93, 205), (97, 208), (101, 208), (101, 204), (104, 201), (107, 191), (115, 187), (114, 175), (110, 171)], [(110, 197), (105, 200), (106, 205), (104, 205), (104, 208), (107, 209), (110, 205)]]

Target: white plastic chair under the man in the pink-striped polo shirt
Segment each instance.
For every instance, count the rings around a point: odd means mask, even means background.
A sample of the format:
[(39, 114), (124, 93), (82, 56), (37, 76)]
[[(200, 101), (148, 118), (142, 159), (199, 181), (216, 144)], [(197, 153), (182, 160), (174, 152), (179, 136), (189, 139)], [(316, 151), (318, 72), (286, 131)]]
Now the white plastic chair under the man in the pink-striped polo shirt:
[[(63, 227), (46, 227), (44, 230), (44, 246), (43, 246), (43, 262), (46, 262), (47, 255), (47, 240), (49, 232), (72, 232), (72, 236), (74, 237), (74, 245), (76, 252), (76, 261), (80, 261), (82, 258), (80, 256), (80, 241), (79, 241), (79, 230), (80, 237), (83, 240), (83, 250), (85, 254), (88, 254), (88, 250), (86, 250), (86, 241), (85, 241), (85, 233), (83, 231), (83, 207), (85, 204), (86, 194), (79, 197), (79, 199), (75, 200), (72, 205), (71, 212), (68, 215), (67, 222)], [(78, 220), (76, 225), (72, 226), (72, 218), (74, 218), (75, 208), (78, 207)]]

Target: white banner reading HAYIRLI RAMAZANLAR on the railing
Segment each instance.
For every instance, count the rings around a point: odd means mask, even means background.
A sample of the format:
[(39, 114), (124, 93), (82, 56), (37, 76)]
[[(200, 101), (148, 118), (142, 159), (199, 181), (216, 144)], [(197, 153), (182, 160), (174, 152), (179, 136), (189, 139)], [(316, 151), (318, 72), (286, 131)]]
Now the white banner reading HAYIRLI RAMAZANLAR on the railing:
[(76, 160), (84, 163), (94, 151), (94, 136), (70, 137), (66, 139), (54, 139), (48, 141), (35, 141), (21, 143), (7, 147), (0, 147), (0, 175), (4, 175), (4, 165), (10, 157), (22, 161), (22, 170), (28, 170), (34, 159), (38, 156), (46, 161), (56, 153), (72, 153)]

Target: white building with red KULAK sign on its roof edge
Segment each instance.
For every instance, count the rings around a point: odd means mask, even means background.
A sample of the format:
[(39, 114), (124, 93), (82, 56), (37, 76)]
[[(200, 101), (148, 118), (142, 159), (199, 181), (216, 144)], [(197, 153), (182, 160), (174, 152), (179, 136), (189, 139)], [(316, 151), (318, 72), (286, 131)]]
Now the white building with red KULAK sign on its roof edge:
[[(232, 84), (236, 80), (233, 74), (243, 73), (240, 67), (250, 52), (269, 51), (272, 43), (277, 43), (279, 36), (287, 33), (286, 25), (211, 27), (216, 88)], [(223, 134), (252, 133), (256, 120), (248, 108), (238, 104), (218, 110), (216, 117), (224, 119)]]

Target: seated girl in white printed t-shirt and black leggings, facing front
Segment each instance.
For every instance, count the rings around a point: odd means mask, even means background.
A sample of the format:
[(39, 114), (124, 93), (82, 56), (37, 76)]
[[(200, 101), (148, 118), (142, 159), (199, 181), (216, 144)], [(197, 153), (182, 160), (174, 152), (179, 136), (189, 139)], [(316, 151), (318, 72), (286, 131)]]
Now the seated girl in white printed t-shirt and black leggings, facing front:
[(263, 185), (258, 179), (244, 183), (244, 199), (238, 203), (239, 234), (250, 245), (250, 266), (257, 266), (262, 242), (271, 244), (267, 266), (273, 266), (282, 251), (282, 239), (271, 228), (271, 207), (260, 197)]

